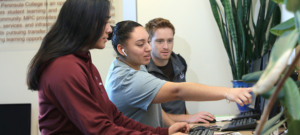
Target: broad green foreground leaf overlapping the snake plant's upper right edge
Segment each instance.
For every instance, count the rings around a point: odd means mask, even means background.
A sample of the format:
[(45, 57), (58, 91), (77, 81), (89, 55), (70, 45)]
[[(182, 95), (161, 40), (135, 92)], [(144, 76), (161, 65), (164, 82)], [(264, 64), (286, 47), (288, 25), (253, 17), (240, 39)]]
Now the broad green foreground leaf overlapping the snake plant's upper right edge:
[(270, 29), (270, 32), (274, 35), (281, 36), (284, 32), (293, 29), (295, 29), (294, 17), (274, 26), (272, 29)]

